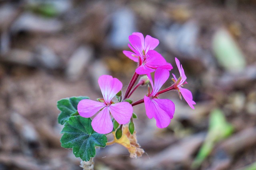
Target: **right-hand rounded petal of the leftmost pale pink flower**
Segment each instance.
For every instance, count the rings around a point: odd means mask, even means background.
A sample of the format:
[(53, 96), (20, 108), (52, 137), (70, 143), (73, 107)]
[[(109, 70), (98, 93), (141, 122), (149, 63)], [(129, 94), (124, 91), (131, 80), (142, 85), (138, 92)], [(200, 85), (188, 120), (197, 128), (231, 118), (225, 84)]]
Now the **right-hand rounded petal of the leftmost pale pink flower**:
[(126, 124), (132, 117), (132, 105), (128, 102), (111, 104), (109, 111), (119, 124)]

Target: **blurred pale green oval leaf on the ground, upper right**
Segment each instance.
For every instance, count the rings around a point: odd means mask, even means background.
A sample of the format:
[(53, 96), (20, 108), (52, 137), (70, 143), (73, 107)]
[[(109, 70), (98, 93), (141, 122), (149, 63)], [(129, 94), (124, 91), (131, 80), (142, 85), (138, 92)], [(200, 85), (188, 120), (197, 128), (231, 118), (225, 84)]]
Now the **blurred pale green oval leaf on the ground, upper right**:
[(212, 50), (220, 65), (226, 70), (237, 72), (245, 68), (245, 57), (226, 29), (219, 29), (215, 33), (212, 42)]

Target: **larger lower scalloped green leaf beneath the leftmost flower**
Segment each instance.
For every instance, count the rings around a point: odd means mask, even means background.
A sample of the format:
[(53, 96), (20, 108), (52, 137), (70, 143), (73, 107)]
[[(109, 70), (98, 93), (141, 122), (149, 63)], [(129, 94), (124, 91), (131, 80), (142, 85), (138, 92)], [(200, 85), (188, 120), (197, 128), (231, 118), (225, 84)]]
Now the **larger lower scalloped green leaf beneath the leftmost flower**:
[(92, 120), (84, 118), (80, 115), (72, 116), (64, 124), (60, 139), (61, 146), (64, 148), (72, 148), (76, 157), (80, 157), (84, 161), (89, 161), (95, 157), (95, 147), (105, 147), (108, 139), (106, 135), (99, 134), (92, 129)]

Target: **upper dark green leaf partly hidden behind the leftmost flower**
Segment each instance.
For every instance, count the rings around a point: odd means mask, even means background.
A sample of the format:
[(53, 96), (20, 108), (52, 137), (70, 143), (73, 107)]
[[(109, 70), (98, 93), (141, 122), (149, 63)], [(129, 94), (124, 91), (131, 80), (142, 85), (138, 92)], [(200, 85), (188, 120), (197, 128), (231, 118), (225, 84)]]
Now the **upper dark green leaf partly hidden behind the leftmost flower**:
[(57, 102), (57, 107), (61, 111), (58, 116), (58, 123), (64, 124), (72, 115), (78, 115), (77, 105), (83, 99), (89, 99), (87, 96), (79, 96), (61, 99)]

